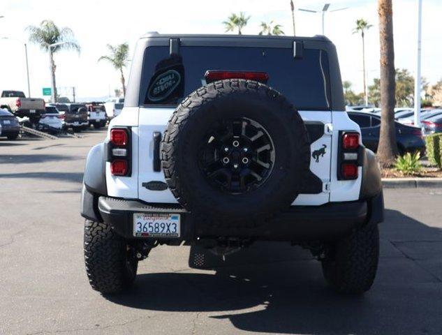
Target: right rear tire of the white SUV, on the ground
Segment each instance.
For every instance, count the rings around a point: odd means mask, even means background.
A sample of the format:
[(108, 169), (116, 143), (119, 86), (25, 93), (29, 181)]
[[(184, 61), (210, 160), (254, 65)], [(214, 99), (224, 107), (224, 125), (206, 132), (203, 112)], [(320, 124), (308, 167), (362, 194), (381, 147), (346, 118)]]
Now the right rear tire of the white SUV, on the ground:
[(331, 246), (322, 262), (323, 274), (337, 292), (359, 295), (371, 288), (378, 260), (378, 225), (366, 225)]

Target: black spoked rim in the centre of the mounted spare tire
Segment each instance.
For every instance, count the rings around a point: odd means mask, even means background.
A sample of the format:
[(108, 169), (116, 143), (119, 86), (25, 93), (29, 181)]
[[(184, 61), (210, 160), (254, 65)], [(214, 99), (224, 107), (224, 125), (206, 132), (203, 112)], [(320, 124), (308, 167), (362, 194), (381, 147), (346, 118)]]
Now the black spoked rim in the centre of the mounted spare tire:
[(230, 119), (214, 124), (200, 146), (199, 166), (209, 184), (240, 194), (258, 188), (274, 165), (274, 144), (256, 121)]

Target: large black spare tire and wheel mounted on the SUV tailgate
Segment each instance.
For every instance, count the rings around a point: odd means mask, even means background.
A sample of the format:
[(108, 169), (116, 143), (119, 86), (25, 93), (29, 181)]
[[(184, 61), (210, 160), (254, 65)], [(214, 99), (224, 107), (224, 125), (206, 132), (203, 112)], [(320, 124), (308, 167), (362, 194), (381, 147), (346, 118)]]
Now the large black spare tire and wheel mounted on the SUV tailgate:
[(161, 142), (170, 191), (204, 223), (263, 223), (300, 193), (310, 165), (307, 130), (278, 91), (221, 80), (179, 104)]

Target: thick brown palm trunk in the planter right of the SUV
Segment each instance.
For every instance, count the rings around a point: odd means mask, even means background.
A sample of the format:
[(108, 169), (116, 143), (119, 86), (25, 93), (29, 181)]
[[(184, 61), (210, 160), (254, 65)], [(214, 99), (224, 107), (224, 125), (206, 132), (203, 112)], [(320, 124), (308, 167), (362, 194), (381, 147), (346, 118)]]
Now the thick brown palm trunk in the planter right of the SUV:
[(395, 128), (395, 45), (393, 43), (392, 0), (378, 0), (379, 40), (381, 43), (381, 135), (378, 160), (392, 165), (397, 156)]

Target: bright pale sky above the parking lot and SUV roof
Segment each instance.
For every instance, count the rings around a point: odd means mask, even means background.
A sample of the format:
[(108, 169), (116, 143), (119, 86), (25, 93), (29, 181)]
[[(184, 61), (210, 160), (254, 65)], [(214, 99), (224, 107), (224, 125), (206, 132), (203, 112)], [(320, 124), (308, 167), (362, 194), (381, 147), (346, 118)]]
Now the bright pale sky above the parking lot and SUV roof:
[[(415, 2), (394, 0), (395, 65), (415, 70)], [(296, 8), (319, 9), (325, 1), (295, 0)], [(373, 24), (366, 34), (367, 73), (369, 82), (379, 73), (378, 17), (376, 0), (327, 1), (330, 10), (325, 18), (325, 35), (336, 45), (343, 80), (350, 80), (362, 91), (362, 45), (360, 35), (352, 34), (355, 20), (364, 18)], [(442, 78), (441, 0), (423, 0), (422, 75), (434, 83)], [(54, 20), (59, 27), (70, 27), (82, 47), (80, 54), (60, 52), (57, 64), (57, 87), (75, 86), (78, 96), (108, 96), (119, 87), (119, 74), (109, 64), (97, 59), (107, 53), (105, 45), (128, 42), (131, 53), (136, 40), (147, 31), (179, 34), (223, 34), (221, 22), (230, 13), (244, 11), (251, 15), (244, 34), (258, 34), (261, 21), (274, 20), (283, 25), (286, 35), (293, 34), (290, 0), (2, 0), (0, 3), (0, 91), (20, 89), (27, 93), (24, 47), (19, 41), (28, 38), (25, 28), (42, 20)], [(321, 34), (321, 20), (313, 13), (295, 13), (297, 35)], [(231, 34), (231, 33), (230, 33)], [(29, 45), (31, 95), (41, 96), (50, 87), (49, 59), (36, 45)], [(128, 75), (126, 70), (126, 75)]]

